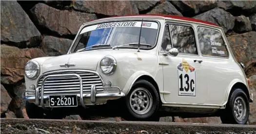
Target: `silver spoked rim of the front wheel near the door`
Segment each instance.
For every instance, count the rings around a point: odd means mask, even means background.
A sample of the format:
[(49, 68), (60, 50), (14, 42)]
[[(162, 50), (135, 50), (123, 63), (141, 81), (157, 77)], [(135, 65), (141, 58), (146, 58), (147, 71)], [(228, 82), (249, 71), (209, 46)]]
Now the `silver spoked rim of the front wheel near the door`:
[(130, 95), (130, 106), (137, 114), (146, 114), (152, 108), (152, 95), (145, 88), (139, 87)]

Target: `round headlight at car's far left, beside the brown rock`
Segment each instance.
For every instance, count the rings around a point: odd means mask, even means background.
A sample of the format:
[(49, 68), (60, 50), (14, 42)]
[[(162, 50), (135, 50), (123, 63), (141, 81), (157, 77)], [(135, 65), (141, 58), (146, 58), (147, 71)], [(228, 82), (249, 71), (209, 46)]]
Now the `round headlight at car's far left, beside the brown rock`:
[(29, 79), (36, 79), (39, 76), (39, 64), (35, 61), (28, 61), (25, 66), (25, 76)]

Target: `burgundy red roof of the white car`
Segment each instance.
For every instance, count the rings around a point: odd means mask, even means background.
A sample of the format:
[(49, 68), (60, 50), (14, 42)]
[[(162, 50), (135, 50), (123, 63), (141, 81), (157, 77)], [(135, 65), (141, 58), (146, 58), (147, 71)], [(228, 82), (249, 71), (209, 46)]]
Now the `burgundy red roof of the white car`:
[[(204, 20), (200, 20), (200, 19), (195, 19), (195, 18), (192, 18), (192, 17), (180, 17), (180, 16), (171, 16), (171, 15), (150, 15), (150, 14), (147, 14), (147, 15), (126, 15), (126, 16), (114, 16), (114, 17), (131, 17), (131, 16), (134, 16), (134, 17), (136, 17), (136, 16), (169, 17), (169, 18), (186, 20), (186, 21), (193, 21), (193, 22), (199, 22), (199, 23), (204, 23), (204, 24), (208, 24), (208, 25), (213, 25), (213, 26), (219, 27), (218, 25), (216, 25), (214, 23), (211, 23), (211, 22), (208, 22), (208, 21), (204, 21)], [(111, 18), (111, 17), (105, 17), (105, 18)]]

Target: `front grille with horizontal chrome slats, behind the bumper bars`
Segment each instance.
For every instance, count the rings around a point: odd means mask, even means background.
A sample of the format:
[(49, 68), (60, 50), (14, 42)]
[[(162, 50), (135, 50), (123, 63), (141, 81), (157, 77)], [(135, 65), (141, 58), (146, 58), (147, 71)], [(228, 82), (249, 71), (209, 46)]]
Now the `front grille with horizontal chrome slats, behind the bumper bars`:
[[(100, 80), (98, 74), (93, 72), (58, 72), (52, 74), (70, 74), (76, 73), (82, 78), (83, 82), (83, 93), (91, 92), (91, 85), (95, 84), (96, 87), (103, 87), (103, 83)], [(41, 91), (41, 84), (44, 77), (40, 78), (38, 82), (39, 92)], [(103, 91), (102, 89), (97, 89), (97, 91)], [(59, 77), (50, 77), (44, 82), (44, 92), (45, 95), (55, 94), (55, 93), (65, 93), (65, 94), (79, 94), (80, 93), (80, 83), (79, 79), (76, 76), (59, 76)]]

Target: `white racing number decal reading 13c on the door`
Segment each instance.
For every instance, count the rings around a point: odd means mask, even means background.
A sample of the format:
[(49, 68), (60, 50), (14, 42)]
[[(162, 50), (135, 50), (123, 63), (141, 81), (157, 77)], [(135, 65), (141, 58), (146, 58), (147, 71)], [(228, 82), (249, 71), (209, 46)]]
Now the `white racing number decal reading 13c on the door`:
[(177, 66), (178, 71), (178, 95), (196, 96), (196, 69), (182, 59)]

